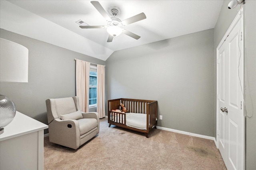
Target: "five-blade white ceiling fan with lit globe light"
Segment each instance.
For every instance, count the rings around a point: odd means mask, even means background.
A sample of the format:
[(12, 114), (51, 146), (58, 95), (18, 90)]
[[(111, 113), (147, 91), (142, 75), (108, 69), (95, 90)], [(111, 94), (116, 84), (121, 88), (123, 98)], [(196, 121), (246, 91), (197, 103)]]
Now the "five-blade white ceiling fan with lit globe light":
[(91, 1), (92, 5), (100, 12), (100, 14), (108, 21), (107, 26), (91, 26), (91, 25), (86, 25), (86, 26), (79, 26), (80, 28), (106, 28), (107, 32), (109, 33), (108, 35), (108, 41), (107, 42), (112, 42), (114, 37), (120, 35), (121, 33), (124, 33), (134, 39), (139, 39), (140, 36), (136, 35), (135, 33), (132, 33), (126, 29), (123, 29), (125, 25), (128, 25), (130, 23), (134, 23), (140, 20), (146, 19), (146, 15), (142, 12), (136, 16), (132, 16), (131, 18), (127, 18), (126, 20), (121, 21), (120, 19), (116, 18), (116, 15), (118, 14), (118, 10), (112, 9), (111, 13), (113, 17), (110, 18), (108, 13), (104, 10), (104, 8), (100, 5), (98, 1)]

